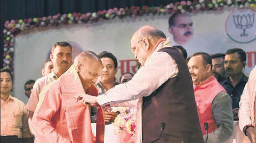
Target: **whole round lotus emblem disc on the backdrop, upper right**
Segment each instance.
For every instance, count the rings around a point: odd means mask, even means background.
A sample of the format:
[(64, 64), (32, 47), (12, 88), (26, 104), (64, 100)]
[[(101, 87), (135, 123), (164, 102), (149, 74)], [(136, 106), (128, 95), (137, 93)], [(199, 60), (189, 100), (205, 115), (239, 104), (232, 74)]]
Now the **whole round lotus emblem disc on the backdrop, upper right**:
[(250, 43), (256, 39), (256, 10), (252, 8), (237, 9), (226, 20), (226, 32), (237, 43)]

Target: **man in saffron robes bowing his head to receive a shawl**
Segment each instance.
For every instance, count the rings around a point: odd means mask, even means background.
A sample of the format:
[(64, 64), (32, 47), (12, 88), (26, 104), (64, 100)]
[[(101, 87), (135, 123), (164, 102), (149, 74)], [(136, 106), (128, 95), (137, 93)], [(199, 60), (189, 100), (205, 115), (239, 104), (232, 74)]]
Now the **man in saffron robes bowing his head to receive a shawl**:
[(32, 119), (36, 143), (104, 143), (101, 107), (98, 106), (95, 138), (90, 106), (75, 98), (84, 93), (98, 95), (94, 83), (101, 70), (101, 59), (92, 51), (83, 51), (67, 72), (44, 87)]

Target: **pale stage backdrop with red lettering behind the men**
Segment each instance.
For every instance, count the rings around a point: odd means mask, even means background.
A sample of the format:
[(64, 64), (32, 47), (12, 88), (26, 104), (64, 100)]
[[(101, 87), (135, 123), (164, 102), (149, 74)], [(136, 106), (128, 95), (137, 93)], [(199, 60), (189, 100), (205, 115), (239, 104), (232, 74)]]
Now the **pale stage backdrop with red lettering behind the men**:
[[(256, 37), (254, 36), (256, 22), (251, 23), (251, 27), (247, 26), (247, 29), (241, 26), (239, 29), (238, 20), (234, 19), (239, 17), (238, 15), (241, 15), (241, 19), (246, 19), (248, 12), (250, 15), (248, 19), (255, 19), (256, 12), (255, 9), (244, 9), (243, 11), (247, 13), (241, 14), (241, 12), (236, 13), (237, 10), (237, 7), (228, 7), (222, 11), (188, 13), (194, 23), (194, 35), (191, 41), (199, 41), (199, 43), (192, 43), (193, 47), (184, 46), (188, 55), (198, 51), (209, 54), (225, 53), (231, 48), (241, 48), (247, 52), (247, 66), (244, 72), (249, 75), (256, 64)], [(24, 83), (29, 79), (36, 80), (41, 77), (41, 68), (48, 58), (48, 52), (58, 41), (67, 41), (72, 44), (73, 57), (82, 50), (92, 50), (96, 54), (101, 51), (113, 53), (119, 61), (116, 75), (118, 79), (124, 72), (135, 73), (138, 68), (137, 61), (130, 51), (132, 34), (142, 25), (154, 25), (172, 39), (172, 35), (168, 32), (170, 16), (171, 14), (144, 15), (135, 19), (116, 18), (91, 24), (35, 27), (20, 32), (15, 37), (14, 44), (15, 78), (13, 87), (15, 97), (27, 103), (27, 97), (24, 95)], [(243, 23), (243, 25), (246, 24)], [(232, 29), (241, 34), (240, 38), (234, 37), (237, 34), (232, 33)], [(244, 40), (243, 37), (247, 37), (247, 39)]]

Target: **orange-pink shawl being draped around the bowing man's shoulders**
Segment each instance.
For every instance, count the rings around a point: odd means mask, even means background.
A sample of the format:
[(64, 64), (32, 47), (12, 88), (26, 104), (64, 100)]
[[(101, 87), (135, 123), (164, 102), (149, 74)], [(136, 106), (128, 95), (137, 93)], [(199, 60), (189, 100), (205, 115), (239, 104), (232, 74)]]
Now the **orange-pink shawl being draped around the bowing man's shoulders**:
[[(62, 105), (66, 108), (66, 118), (69, 135), (74, 143), (86, 141), (88, 143), (104, 143), (105, 122), (100, 105), (97, 106), (96, 137), (91, 129), (90, 107), (84, 106), (81, 101), (75, 102), (74, 96), (89, 94), (98, 96), (97, 88), (92, 85), (86, 91), (83, 89), (79, 75), (74, 65), (59, 78), (62, 91)], [(81, 115), (82, 114), (82, 115)]]

